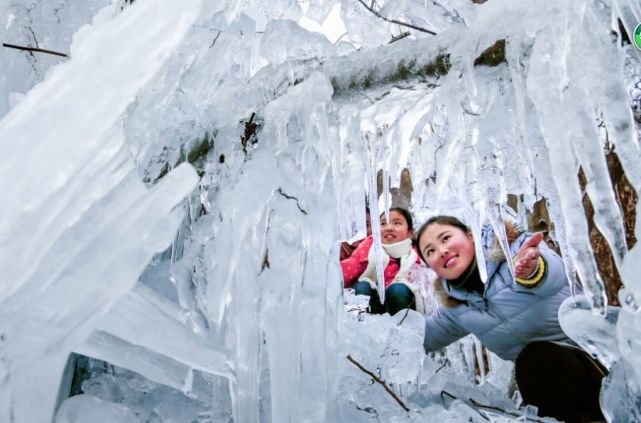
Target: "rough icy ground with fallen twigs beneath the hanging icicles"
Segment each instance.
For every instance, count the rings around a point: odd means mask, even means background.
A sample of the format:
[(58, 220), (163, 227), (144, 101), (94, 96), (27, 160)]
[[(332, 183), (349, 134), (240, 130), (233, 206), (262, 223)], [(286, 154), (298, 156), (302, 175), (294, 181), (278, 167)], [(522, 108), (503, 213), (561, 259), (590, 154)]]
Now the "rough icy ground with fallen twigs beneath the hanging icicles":
[[(450, 346), (443, 354), (426, 356), (420, 314), (370, 315), (365, 313), (367, 299), (355, 297), (351, 291), (346, 292), (345, 301), (340, 329), (340, 354), (345, 360), (335, 369), (339, 375), (333, 404), (336, 421), (516, 422), (524, 421), (524, 417), (529, 421), (555, 421), (536, 417), (532, 408), (519, 409), (518, 393), (514, 394), (512, 386), (512, 363), (489, 354), (486, 361), (490, 372), (475, 369), (474, 348), (479, 344), (472, 337)], [(231, 398), (222, 378), (196, 372), (192, 389), (185, 395), (131, 371), (91, 359), (80, 360), (81, 367), (88, 370), (82, 377), (84, 394), (62, 406), (56, 423), (85, 421), (81, 416), (105, 422), (118, 416), (118, 421), (128, 423), (214, 423), (232, 418)], [(393, 394), (367, 372), (373, 372)], [(263, 364), (261, 385), (269, 385), (269, 376)], [(268, 394), (261, 398), (261, 422), (273, 421), (269, 400)]]

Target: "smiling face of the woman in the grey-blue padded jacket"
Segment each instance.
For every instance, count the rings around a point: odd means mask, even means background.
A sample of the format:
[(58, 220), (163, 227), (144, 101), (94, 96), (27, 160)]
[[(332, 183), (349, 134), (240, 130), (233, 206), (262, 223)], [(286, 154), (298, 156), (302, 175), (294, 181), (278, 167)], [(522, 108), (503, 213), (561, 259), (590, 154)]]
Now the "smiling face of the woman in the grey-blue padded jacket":
[(474, 261), (474, 238), (456, 226), (433, 223), (421, 233), (418, 248), (425, 263), (444, 279), (454, 280)]

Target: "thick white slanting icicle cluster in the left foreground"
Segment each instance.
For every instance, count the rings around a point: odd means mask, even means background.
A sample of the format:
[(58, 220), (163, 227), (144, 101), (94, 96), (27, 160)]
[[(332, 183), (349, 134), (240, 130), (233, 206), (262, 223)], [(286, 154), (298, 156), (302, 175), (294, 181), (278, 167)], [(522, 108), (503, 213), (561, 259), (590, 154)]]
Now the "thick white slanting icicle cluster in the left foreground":
[(96, 24), (0, 122), (0, 150), (19, 157), (0, 168), (2, 421), (51, 421), (68, 354), (173, 239), (196, 175), (181, 166), (146, 189), (117, 123), (198, 12), (143, 3)]

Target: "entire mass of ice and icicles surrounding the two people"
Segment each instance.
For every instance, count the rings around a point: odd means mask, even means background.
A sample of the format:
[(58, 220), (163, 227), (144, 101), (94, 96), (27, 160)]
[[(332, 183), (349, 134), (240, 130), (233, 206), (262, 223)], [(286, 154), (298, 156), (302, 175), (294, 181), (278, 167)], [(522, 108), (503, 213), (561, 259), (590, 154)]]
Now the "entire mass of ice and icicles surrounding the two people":
[[(346, 34), (334, 43), (298, 25), (338, 6)], [(628, 251), (604, 159), (607, 144), (638, 192), (641, 51), (617, 24), (631, 33), (637, 2), (0, 0), (0, 11), (3, 42), (70, 56), (0, 50), (0, 421), (50, 422), (56, 408), (59, 423), (534, 413), (511, 398), (509, 363), (490, 354), (489, 373), (475, 369), (474, 339), (425, 356), (420, 315), (365, 316), (343, 293), (337, 240), (364, 232), (366, 196), (372, 215), (389, 207), (377, 171), (387, 194), (406, 167), (419, 222), (456, 209), (498, 229), (507, 194), (522, 208), (547, 199), (586, 293), (564, 327), (612, 366), (608, 418), (641, 418), (641, 250)], [(579, 166), (623, 277), (618, 311)], [(62, 402), (70, 352), (111, 364), (88, 365), (85, 395)]]

